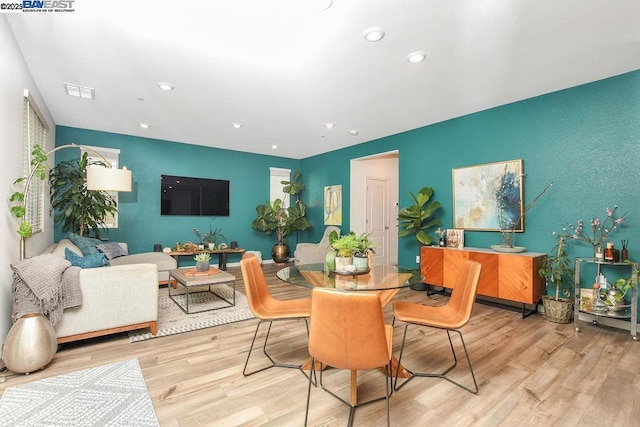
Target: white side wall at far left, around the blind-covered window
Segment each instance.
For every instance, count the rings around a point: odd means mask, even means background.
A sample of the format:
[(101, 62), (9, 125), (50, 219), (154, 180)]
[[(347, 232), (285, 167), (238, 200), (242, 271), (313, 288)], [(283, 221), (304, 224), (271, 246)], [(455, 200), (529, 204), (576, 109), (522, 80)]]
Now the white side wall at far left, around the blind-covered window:
[[(31, 72), (13, 37), (5, 16), (0, 15), (0, 342), (11, 327), (11, 283), (10, 264), (19, 260), (20, 240), (16, 233), (19, 221), (9, 211), (9, 197), (15, 191), (13, 182), (22, 176), (22, 102), (24, 90), (28, 89), (49, 125), (47, 149), (54, 146), (55, 127)], [(62, 84), (62, 82), (60, 83)], [(45, 194), (49, 190), (45, 189)], [(27, 256), (33, 256), (53, 242), (53, 225), (48, 215), (48, 197), (45, 197), (44, 232), (27, 240)]]

